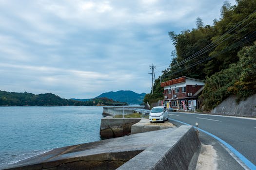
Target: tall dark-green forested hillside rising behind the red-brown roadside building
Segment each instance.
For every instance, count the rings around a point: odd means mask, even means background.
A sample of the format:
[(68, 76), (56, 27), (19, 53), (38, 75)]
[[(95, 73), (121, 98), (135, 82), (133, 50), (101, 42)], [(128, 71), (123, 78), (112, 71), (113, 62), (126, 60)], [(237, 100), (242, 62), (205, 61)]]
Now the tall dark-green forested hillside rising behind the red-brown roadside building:
[[(206, 110), (213, 109), (230, 95), (237, 101), (256, 93), (256, 0), (225, 1), (221, 18), (204, 25), (197, 17), (197, 28), (177, 34), (169, 32), (175, 46), (172, 62), (163, 70), (161, 81), (181, 76), (205, 80), (200, 96)], [(163, 99), (160, 77), (144, 102)]]

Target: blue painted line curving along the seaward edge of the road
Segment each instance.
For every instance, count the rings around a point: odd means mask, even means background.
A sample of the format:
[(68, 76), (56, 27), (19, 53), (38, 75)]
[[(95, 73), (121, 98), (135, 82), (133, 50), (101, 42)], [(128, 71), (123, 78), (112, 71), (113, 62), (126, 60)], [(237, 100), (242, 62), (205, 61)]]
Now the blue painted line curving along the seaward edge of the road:
[[(171, 119), (171, 118), (169, 118)], [(182, 121), (179, 121), (179, 120), (176, 120), (176, 119), (171, 119), (171, 120), (174, 120), (174, 121), (177, 121), (179, 123), (182, 123), (182, 124), (185, 124), (185, 125), (190, 125), (188, 123), (185, 123), (185, 122), (182, 122)], [(190, 125), (191, 126), (191, 125)], [(195, 126), (193, 126), (194, 128), (197, 128)], [(256, 170), (256, 166), (251, 162), (249, 161), (244, 155), (242, 155), (241, 153), (239, 153), (235, 148), (233, 148), (230, 144), (228, 144), (227, 142), (225, 142), (224, 140), (222, 140), (221, 138), (205, 131), (205, 130), (202, 130), (200, 128), (198, 128), (200, 131), (204, 132), (205, 134), (207, 135), (210, 135), (212, 137), (214, 137), (215, 139), (217, 139), (220, 143), (222, 143), (223, 145), (225, 145), (231, 152), (233, 152), (248, 168), (250, 168), (251, 170)]]

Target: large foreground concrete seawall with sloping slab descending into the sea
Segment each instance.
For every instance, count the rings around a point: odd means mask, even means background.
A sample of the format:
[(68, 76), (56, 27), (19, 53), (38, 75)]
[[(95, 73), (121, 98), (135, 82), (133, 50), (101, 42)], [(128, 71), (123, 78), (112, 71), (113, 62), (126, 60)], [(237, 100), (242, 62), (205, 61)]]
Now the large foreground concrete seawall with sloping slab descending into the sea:
[(58, 148), (7, 169), (195, 170), (200, 147), (194, 128), (180, 126)]

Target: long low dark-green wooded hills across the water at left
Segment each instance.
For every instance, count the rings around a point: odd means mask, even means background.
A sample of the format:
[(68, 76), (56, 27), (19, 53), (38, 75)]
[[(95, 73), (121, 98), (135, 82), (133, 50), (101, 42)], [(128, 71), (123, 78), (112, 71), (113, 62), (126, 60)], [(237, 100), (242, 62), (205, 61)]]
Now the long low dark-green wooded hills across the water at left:
[(52, 93), (35, 95), (32, 93), (16, 93), (0, 91), (0, 106), (68, 106), (68, 105), (113, 105), (108, 98), (92, 99), (90, 101), (74, 101), (62, 99)]

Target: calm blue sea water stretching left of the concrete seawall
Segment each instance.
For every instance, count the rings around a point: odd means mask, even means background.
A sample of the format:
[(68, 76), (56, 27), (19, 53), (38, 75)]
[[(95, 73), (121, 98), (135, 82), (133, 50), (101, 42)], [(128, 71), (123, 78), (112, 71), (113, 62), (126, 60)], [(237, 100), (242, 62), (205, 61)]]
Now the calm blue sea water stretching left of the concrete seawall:
[(0, 107), (0, 169), (53, 148), (100, 140), (102, 107)]

